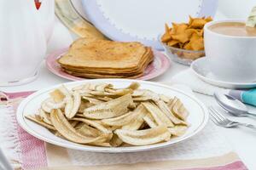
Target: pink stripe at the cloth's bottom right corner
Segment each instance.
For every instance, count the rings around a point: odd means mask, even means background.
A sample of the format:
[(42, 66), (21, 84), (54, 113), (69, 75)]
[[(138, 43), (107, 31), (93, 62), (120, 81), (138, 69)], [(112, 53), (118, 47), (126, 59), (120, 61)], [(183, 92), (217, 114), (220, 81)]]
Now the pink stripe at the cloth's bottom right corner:
[(234, 161), (230, 164), (218, 166), (218, 167), (195, 167), (195, 168), (186, 168), (179, 170), (247, 170), (247, 167), (242, 161)]

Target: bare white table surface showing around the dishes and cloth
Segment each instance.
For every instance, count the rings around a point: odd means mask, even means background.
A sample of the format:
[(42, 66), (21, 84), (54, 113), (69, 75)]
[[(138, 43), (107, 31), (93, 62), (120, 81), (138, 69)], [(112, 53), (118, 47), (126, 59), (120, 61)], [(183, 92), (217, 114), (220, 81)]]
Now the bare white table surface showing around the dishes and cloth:
[[(179, 71), (187, 69), (187, 66), (179, 65), (173, 63), (168, 71), (160, 77), (154, 78), (153, 82), (168, 82), (173, 75), (177, 74)], [(184, 77), (185, 78), (185, 77)], [(25, 85), (15, 86), (15, 87), (1, 87), (0, 89), (5, 92), (19, 92), (19, 91), (28, 91), (28, 90), (38, 90), (42, 88), (48, 88), (49, 86), (59, 84), (62, 82), (68, 82), (67, 80), (56, 77), (50, 71), (48, 71), (42, 63), (38, 79), (34, 82), (30, 82)], [(215, 100), (203, 94), (195, 94), (197, 98), (201, 99), (206, 105), (217, 105)], [(247, 118), (236, 118), (232, 117), (234, 120), (256, 123), (256, 120), (250, 120)], [(241, 157), (241, 160), (247, 165), (249, 169), (256, 168), (256, 161), (254, 159), (256, 153), (256, 132), (252, 132), (249, 129), (243, 128), (223, 128), (218, 127), (219, 133), (223, 133), (228, 143), (236, 150), (236, 152)]]

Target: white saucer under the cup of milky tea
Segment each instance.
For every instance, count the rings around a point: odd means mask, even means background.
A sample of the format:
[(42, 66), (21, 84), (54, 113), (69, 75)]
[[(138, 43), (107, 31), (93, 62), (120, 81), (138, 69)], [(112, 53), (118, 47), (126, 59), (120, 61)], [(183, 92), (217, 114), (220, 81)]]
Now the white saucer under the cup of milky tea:
[(199, 77), (202, 81), (210, 83), (220, 88), (255, 88), (256, 82), (224, 82), (214, 77), (207, 65), (207, 58), (196, 59), (191, 64), (191, 70)]

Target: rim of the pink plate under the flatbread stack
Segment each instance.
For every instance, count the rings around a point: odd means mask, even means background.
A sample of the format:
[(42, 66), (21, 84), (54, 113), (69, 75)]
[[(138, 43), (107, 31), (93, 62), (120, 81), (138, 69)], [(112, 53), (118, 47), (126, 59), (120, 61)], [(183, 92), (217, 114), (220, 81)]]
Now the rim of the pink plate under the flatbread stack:
[[(73, 75), (69, 75), (64, 71), (61, 71), (64, 74), (67, 74), (68, 77), (66, 77), (65, 75), (62, 75), (60, 73), (58, 73), (58, 71), (55, 70), (54, 66), (50, 64), (49, 60), (52, 58), (59, 58), (61, 56), (61, 54), (66, 53), (68, 50), (68, 48), (60, 48), (58, 50), (55, 50), (54, 52), (50, 53), (47, 55), (46, 59), (45, 59), (45, 64), (46, 64), (46, 68), (53, 74), (55, 74), (55, 76), (57, 77), (62, 77), (66, 80), (71, 80), (71, 81), (84, 81), (84, 80), (91, 80), (90, 78), (83, 78), (83, 77), (74, 77)], [(143, 75), (143, 77), (138, 77), (135, 80), (151, 80), (153, 78), (156, 77), (160, 77), (161, 75), (163, 75), (164, 73), (166, 73), (166, 71), (168, 71), (168, 69), (171, 66), (171, 59), (166, 56), (166, 54), (163, 54), (162, 52), (153, 49), (154, 56), (157, 56), (160, 60), (163, 59), (163, 61), (161, 62), (161, 68), (160, 70), (157, 70), (156, 74), (153, 77), (148, 77), (148, 75)], [(154, 61), (153, 61), (154, 62)], [(127, 79), (127, 78), (125, 78)]]

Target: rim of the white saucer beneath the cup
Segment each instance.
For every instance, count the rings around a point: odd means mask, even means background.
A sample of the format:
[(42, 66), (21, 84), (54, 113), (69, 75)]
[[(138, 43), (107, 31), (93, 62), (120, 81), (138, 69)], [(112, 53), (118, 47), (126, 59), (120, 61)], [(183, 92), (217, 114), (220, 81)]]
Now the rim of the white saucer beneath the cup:
[[(212, 85), (218, 86), (220, 88), (252, 88), (256, 87), (256, 82), (224, 82), (221, 80), (212, 79), (210, 77), (206, 77), (202, 75), (200, 72), (195, 70), (195, 65), (202, 62), (203, 60), (206, 60), (206, 57), (202, 57), (200, 59), (195, 59), (190, 65), (191, 70), (195, 74), (196, 77), (199, 77), (202, 81), (210, 83)], [(200, 65), (200, 64), (199, 64)]]

